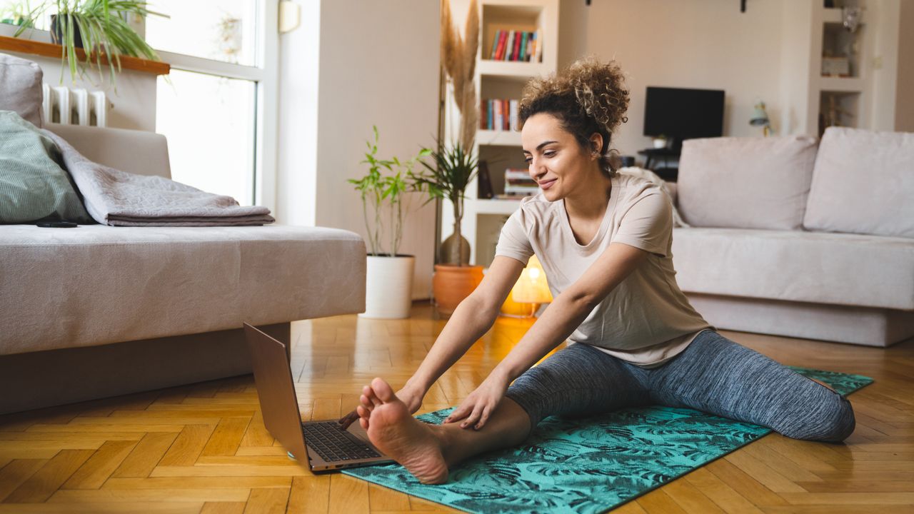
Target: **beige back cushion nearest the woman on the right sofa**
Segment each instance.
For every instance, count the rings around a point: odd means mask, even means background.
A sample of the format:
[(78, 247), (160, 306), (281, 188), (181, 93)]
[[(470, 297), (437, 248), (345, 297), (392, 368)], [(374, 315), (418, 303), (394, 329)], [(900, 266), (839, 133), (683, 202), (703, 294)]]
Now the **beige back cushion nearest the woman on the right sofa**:
[(680, 214), (693, 227), (799, 229), (814, 161), (815, 140), (805, 136), (687, 140)]

